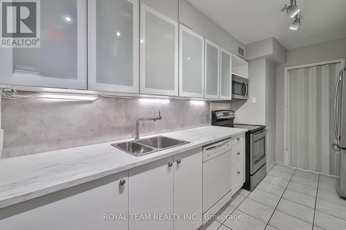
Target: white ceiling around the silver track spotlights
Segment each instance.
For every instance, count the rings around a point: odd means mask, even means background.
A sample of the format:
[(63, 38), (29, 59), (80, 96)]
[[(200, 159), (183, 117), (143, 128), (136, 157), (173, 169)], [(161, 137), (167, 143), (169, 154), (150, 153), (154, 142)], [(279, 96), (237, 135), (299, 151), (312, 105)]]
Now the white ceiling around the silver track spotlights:
[(346, 37), (346, 0), (297, 0), (302, 26), (281, 12), (289, 0), (188, 0), (243, 44), (275, 37), (287, 49)]

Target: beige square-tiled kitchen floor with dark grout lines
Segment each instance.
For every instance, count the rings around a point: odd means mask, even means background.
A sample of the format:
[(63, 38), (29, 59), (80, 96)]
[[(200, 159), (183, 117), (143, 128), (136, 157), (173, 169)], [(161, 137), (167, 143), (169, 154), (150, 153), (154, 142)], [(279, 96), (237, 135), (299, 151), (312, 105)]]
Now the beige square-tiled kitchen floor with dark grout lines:
[(226, 218), (201, 229), (345, 230), (346, 200), (338, 196), (335, 183), (327, 175), (275, 166), (251, 193), (237, 191), (221, 211)]

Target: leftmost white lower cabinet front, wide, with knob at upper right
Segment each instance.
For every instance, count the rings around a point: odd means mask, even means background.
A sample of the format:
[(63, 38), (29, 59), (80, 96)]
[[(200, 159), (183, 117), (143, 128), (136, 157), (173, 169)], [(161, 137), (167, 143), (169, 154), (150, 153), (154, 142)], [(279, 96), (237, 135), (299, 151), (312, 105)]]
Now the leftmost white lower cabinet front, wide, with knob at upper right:
[[(5, 213), (24, 212), (0, 220), (0, 229), (127, 230), (128, 186), (127, 171), (124, 171), (15, 204), (4, 208), (9, 209)], [(120, 214), (122, 220), (109, 220), (112, 218), (109, 214)]]

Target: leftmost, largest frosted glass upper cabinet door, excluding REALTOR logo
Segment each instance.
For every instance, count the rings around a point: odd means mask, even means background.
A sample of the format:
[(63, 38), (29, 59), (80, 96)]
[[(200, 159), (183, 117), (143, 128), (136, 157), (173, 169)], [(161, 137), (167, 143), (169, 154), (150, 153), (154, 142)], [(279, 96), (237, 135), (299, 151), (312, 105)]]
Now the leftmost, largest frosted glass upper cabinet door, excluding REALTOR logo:
[(86, 89), (86, 0), (40, 1), (39, 21), (40, 48), (1, 48), (0, 83)]

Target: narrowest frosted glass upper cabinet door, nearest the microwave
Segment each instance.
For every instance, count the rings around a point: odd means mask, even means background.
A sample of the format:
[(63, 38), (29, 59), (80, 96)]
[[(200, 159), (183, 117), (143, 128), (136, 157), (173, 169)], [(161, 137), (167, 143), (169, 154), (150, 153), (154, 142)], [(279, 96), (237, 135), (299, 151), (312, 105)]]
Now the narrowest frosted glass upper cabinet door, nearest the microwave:
[(232, 99), (232, 54), (221, 48), (220, 99)]

